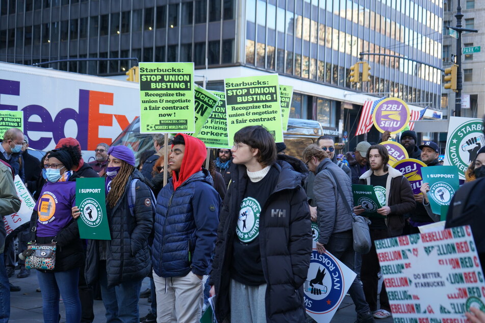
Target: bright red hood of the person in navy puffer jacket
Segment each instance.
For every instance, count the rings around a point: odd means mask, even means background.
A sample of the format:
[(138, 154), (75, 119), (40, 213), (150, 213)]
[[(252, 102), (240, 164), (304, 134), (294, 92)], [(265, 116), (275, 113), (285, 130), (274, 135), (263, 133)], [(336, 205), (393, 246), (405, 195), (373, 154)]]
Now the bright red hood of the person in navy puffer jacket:
[(202, 170), (202, 163), (207, 156), (206, 145), (200, 139), (194, 138), (185, 133), (178, 134), (184, 137), (185, 151), (184, 159), (182, 159), (182, 166), (180, 167), (180, 172), (178, 172), (178, 180), (175, 171), (172, 172), (174, 191), (177, 189), (178, 186), (182, 185), (190, 176)]

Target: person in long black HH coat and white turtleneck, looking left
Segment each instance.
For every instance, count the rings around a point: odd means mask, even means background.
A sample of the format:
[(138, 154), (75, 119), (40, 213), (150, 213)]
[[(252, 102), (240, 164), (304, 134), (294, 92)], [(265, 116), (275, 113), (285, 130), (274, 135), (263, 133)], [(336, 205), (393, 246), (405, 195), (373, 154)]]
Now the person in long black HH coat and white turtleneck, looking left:
[(211, 280), (217, 321), (303, 322), (312, 252), (303, 175), (277, 160), (262, 126), (234, 136), (232, 183), (220, 214)]

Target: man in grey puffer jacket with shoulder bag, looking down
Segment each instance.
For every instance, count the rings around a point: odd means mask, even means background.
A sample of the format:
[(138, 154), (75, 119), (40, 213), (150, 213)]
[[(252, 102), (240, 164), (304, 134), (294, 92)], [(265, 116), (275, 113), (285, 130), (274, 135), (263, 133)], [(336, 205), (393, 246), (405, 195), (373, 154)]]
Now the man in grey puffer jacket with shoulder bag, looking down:
[[(350, 206), (353, 205), (352, 183), (350, 177), (329, 157), (317, 145), (310, 145), (303, 151), (303, 160), (307, 160), (309, 170), (316, 175), (313, 192), (319, 224), (317, 250), (319, 253), (328, 251), (353, 269), (355, 252), (352, 214), (349, 213)], [(343, 193), (344, 200), (339, 191)], [(355, 304), (356, 322), (374, 322), (358, 279), (351, 283), (349, 294)]]

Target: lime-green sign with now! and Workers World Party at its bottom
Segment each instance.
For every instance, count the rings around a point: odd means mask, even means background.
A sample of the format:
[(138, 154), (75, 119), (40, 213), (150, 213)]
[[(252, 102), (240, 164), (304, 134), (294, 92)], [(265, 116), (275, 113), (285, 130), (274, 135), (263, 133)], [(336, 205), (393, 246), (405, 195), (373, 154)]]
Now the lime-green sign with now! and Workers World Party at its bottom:
[(194, 63), (139, 66), (140, 133), (193, 133)]

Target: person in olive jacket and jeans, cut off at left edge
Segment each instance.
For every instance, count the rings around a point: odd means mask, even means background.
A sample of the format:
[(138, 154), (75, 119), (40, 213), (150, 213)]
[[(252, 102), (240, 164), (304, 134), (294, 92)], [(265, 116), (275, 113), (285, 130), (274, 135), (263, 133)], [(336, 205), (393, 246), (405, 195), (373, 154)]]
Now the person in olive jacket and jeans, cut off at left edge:
[(20, 209), (20, 199), (13, 184), (12, 171), (0, 163), (0, 320), (8, 322), (10, 317), (10, 288), (4, 263), (5, 231), (3, 217)]

